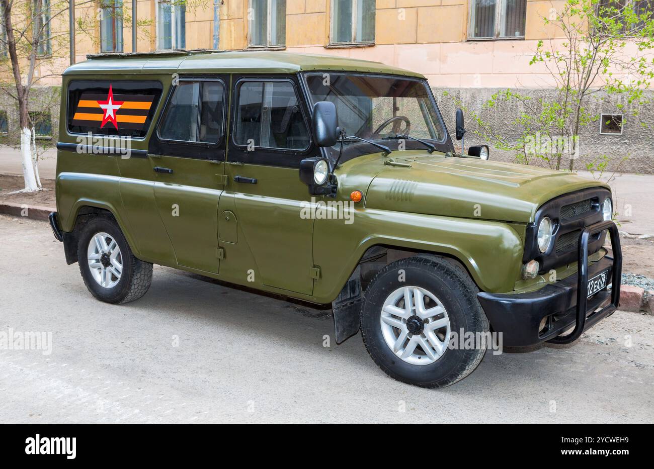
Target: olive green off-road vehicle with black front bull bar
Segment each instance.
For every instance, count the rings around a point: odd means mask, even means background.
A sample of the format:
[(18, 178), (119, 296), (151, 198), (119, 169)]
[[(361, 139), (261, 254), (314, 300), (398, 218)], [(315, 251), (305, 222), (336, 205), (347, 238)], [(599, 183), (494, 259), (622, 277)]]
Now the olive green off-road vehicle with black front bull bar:
[(143, 296), (156, 263), (331, 304), (337, 343), (361, 329), (423, 387), (618, 304), (609, 187), (457, 154), (420, 74), (194, 51), (90, 56), (62, 86), (50, 222), (97, 299)]

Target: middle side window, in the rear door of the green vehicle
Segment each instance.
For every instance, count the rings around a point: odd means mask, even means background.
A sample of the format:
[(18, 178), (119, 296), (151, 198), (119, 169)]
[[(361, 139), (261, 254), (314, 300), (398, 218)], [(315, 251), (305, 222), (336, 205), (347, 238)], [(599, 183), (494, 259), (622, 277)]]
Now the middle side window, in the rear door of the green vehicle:
[(182, 81), (173, 91), (159, 129), (162, 140), (216, 144), (222, 136), (224, 86)]

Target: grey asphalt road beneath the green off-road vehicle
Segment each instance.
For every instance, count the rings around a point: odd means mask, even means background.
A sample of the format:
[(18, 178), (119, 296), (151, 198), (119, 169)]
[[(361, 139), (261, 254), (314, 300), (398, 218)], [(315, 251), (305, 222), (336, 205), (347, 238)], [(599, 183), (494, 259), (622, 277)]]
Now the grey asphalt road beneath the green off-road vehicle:
[(137, 302), (99, 302), (41, 221), (0, 216), (0, 259), (0, 334), (52, 332), (50, 355), (0, 349), (1, 423), (654, 421), (651, 316), (487, 353), (429, 390), (388, 378), (360, 336), (324, 347), (324, 311), (170, 268)]

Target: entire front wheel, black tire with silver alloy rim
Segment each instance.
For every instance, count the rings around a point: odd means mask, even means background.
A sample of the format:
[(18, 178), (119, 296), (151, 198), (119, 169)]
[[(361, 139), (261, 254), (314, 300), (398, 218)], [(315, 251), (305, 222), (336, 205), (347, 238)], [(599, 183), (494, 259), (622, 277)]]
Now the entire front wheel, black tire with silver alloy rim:
[[(441, 257), (417, 255), (387, 265), (368, 286), (361, 312), (368, 353), (405, 383), (445, 387), (462, 380), (487, 347), (489, 321), (478, 291), (464, 268)], [(453, 334), (472, 340), (451, 346)]]

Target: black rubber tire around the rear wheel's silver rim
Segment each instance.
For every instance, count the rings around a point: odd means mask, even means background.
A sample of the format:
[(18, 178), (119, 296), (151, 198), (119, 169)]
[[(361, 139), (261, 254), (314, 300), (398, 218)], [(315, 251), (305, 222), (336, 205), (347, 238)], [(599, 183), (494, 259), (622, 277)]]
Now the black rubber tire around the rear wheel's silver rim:
[[(111, 288), (99, 285), (93, 278), (88, 265), (88, 244), (97, 233), (111, 235), (120, 248), (122, 273), (118, 283)], [(84, 225), (77, 244), (77, 258), (86, 288), (101, 301), (122, 304), (137, 300), (145, 295), (152, 283), (152, 264), (134, 257), (118, 223), (110, 216), (97, 216)]]

